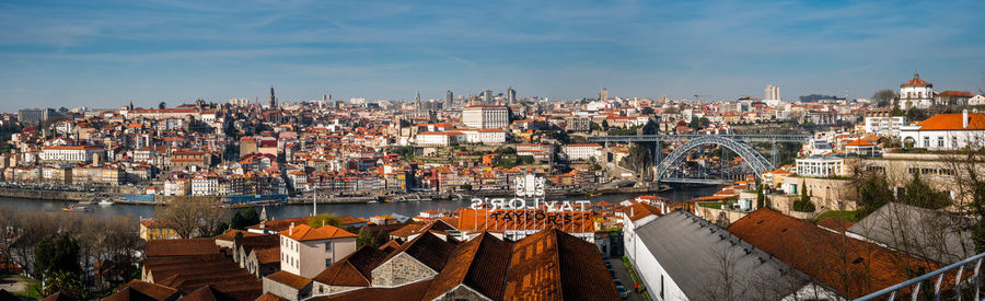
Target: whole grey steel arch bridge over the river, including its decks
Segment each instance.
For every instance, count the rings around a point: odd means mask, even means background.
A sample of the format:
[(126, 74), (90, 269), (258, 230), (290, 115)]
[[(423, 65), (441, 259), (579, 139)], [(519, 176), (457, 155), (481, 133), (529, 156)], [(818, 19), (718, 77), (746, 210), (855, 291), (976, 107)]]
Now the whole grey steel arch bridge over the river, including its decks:
[[(761, 176), (763, 172), (775, 169), (777, 160), (777, 143), (779, 142), (804, 142), (810, 140), (809, 135), (636, 135), (636, 136), (600, 136), (590, 137), (590, 141), (595, 142), (656, 142), (657, 150), (654, 152), (656, 174), (654, 178), (660, 182), (674, 183), (699, 183), (699, 184), (720, 184), (726, 181), (721, 180), (702, 180), (702, 178), (671, 178), (665, 177), (671, 167), (680, 164), (688, 153), (704, 146), (721, 146), (729, 149), (740, 158), (756, 174)], [(667, 158), (661, 159), (662, 143), (665, 141), (682, 141), (683, 144), (675, 148)], [(767, 142), (773, 143), (773, 161), (766, 160), (760, 152), (754, 150), (749, 142)]]

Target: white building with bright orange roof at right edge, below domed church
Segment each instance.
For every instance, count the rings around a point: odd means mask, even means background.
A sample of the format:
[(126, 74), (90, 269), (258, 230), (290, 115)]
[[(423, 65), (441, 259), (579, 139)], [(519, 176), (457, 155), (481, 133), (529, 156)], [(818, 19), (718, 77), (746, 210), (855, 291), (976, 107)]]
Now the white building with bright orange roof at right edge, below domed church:
[(937, 114), (927, 120), (900, 129), (904, 148), (957, 150), (972, 144), (985, 144), (985, 114)]

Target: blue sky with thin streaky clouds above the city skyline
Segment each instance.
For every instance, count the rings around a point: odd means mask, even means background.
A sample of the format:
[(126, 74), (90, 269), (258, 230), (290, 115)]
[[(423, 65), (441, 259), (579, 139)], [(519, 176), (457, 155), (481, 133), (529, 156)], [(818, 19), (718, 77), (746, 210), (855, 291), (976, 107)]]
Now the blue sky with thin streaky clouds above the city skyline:
[(3, 1), (0, 111), (985, 89), (985, 1)]

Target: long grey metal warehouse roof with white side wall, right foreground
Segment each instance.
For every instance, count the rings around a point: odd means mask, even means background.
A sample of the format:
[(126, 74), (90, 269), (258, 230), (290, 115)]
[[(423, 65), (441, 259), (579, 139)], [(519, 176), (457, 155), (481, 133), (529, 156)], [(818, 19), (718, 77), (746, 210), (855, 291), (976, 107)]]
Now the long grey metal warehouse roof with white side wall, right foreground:
[[(800, 271), (686, 211), (657, 218), (636, 233), (686, 299), (779, 300), (810, 281)], [(726, 297), (729, 293), (732, 298)]]

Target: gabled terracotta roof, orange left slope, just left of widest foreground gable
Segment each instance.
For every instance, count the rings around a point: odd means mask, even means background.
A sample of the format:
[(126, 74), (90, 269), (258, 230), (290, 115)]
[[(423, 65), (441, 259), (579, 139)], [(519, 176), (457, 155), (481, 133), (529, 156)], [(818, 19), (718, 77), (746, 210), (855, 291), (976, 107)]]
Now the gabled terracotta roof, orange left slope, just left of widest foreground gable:
[(501, 300), (512, 244), (488, 232), (460, 244), (438, 276), (431, 281), (424, 300), (432, 300), (459, 285), (493, 300)]

